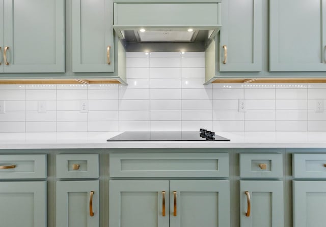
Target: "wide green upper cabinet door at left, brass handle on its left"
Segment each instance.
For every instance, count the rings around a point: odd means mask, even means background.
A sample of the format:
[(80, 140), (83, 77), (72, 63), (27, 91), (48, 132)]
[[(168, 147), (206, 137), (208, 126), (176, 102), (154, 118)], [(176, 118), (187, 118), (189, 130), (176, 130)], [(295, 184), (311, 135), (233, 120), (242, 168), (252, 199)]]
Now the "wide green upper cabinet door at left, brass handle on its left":
[(64, 0), (4, 0), (5, 73), (65, 71)]

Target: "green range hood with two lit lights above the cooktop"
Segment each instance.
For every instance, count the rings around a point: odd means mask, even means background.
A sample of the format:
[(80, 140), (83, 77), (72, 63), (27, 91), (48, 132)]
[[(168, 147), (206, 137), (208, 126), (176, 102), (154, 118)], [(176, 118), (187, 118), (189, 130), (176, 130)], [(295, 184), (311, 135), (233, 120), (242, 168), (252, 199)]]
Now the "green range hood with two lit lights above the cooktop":
[(126, 51), (205, 51), (221, 28), (220, 1), (114, 3), (114, 30)]

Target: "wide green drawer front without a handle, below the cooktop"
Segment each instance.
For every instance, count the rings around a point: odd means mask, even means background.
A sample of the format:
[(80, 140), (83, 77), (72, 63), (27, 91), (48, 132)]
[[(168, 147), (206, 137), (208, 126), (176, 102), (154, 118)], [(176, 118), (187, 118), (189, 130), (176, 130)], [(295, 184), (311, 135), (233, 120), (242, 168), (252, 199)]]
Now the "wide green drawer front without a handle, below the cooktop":
[(110, 154), (111, 177), (229, 177), (227, 153)]

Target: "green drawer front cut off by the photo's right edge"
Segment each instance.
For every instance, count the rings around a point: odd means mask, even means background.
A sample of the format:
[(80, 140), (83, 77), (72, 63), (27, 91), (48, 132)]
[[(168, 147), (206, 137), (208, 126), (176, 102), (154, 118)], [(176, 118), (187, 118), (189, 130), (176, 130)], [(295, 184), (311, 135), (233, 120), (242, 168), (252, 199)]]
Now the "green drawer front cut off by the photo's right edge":
[(326, 178), (326, 154), (292, 154), (295, 178)]

